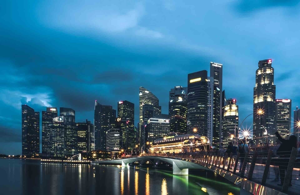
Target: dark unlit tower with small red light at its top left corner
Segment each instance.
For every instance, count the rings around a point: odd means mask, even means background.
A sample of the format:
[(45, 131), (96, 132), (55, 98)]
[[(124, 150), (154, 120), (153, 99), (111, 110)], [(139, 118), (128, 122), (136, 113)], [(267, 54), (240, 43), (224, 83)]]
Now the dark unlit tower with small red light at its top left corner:
[(114, 126), (116, 111), (111, 105), (101, 105), (95, 101), (94, 132), (95, 149), (106, 151), (106, 131)]

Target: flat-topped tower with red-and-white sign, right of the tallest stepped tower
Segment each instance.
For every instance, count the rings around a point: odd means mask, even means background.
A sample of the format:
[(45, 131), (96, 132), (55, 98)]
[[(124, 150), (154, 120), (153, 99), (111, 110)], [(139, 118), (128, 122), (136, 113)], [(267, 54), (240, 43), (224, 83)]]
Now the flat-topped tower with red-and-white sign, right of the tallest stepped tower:
[(283, 139), (288, 139), (291, 132), (292, 100), (276, 99), (276, 131)]

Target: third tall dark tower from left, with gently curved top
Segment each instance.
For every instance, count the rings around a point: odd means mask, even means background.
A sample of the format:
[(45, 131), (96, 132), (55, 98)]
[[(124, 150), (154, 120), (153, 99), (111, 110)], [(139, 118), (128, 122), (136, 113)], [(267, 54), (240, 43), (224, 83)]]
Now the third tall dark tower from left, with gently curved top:
[(77, 154), (77, 132), (75, 123), (75, 110), (71, 108), (59, 108), (59, 115), (66, 119), (65, 129), (65, 155), (73, 156)]

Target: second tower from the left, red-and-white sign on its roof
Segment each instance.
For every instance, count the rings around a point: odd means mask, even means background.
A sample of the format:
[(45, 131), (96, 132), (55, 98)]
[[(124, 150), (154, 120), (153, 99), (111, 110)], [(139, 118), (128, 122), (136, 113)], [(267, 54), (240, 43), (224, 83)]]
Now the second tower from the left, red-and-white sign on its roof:
[(50, 149), (50, 129), (53, 125), (53, 118), (57, 117), (57, 108), (47, 107), (42, 111), (42, 153), (48, 154)]

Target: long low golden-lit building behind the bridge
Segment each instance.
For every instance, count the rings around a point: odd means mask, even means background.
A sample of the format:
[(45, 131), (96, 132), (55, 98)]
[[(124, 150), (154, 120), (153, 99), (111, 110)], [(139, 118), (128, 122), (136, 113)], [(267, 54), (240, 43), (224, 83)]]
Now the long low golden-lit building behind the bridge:
[(187, 153), (199, 150), (209, 150), (207, 138), (199, 134), (172, 135), (156, 139), (151, 143), (150, 151), (153, 153)]

